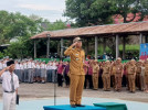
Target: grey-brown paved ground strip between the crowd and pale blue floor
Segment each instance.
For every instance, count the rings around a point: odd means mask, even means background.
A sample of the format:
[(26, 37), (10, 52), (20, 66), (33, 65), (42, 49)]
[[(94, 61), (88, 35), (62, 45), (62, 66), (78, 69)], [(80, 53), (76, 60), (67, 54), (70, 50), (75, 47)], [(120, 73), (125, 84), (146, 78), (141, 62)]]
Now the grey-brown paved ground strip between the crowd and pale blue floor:
[[(2, 88), (0, 85), (0, 100), (2, 100)], [(19, 95), (21, 100), (44, 99), (53, 98), (54, 84), (20, 84)], [(57, 98), (68, 97), (70, 90), (65, 87), (56, 87)], [(129, 101), (148, 102), (148, 94), (137, 90), (136, 94), (130, 94), (123, 88), (121, 92), (103, 91), (102, 89), (92, 90), (84, 89), (83, 97), (91, 98), (107, 98), (107, 99), (120, 99)]]

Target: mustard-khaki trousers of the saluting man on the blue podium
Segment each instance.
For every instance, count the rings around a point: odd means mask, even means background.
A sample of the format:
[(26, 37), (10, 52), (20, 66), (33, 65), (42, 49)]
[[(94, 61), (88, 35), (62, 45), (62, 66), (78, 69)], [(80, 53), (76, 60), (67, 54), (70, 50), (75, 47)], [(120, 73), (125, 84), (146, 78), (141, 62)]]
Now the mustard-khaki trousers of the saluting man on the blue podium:
[(85, 75), (70, 75), (70, 103), (81, 105)]

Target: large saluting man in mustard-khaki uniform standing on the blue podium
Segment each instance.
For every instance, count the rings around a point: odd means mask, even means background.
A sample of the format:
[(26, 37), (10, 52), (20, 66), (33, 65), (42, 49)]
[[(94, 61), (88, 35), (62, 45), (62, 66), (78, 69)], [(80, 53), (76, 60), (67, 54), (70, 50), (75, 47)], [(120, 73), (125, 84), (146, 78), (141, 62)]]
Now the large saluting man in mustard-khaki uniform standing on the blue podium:
[(84, 61), (85, 52), (82, 50), (82, 40), (75, 37), (73, 44), (64, 52), (71, 57), (70, 63), (70, 103), (72, 108), (84, 107), (81, 105), (82, 92), (84, 88), (85, 73)]

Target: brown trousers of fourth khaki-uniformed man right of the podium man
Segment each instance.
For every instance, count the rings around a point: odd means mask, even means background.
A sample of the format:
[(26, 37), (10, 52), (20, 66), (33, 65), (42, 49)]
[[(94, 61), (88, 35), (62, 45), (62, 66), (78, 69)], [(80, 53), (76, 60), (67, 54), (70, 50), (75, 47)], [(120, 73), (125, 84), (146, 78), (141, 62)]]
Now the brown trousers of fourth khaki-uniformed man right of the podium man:
[(135, 75), (128, 74), (129, 91), (135, 92)]

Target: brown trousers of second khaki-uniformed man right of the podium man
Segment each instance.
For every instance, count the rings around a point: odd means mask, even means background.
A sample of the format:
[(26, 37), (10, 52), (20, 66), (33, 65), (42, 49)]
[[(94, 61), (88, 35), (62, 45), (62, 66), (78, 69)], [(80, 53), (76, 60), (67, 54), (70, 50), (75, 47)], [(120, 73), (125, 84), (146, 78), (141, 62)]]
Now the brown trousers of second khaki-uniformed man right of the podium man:
[(103, 74), (103, 84), (104, 84), (104, 90), (110, 90), (110, 75), (107, 73)]

